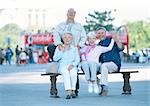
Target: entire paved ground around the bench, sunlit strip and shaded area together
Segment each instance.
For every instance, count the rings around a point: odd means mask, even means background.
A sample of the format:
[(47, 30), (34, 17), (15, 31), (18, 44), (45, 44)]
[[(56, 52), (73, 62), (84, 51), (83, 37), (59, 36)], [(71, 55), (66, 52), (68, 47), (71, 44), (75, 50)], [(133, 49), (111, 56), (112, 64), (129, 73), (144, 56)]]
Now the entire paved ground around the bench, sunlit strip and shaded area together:
[[(13, 67), (13, 66), (12, 66)], [(30, 66), (28, 66), (30, 67)], [(66, 100), (62, 77), (58, 77), (58, 95), (49, 97), (49, 77), (40, 76), (43, 66), (31, 70), (3, 72), (0, 67), (0, 106), (150, 106), (150, 66), (124, 64), (124, 69), (139, 70), (131, 74), (132, 95), (122, 95), (123, 79), (121, 74), (109, 75), (107, 97), (90, 94), (84, 76), (80, 76), (78, 98)], [(4, 68), (4, 67), (3, 67)], [(13, 69), (13, 68), (11, 68)], [(38, 70), (37, 70), (38, 69)]]

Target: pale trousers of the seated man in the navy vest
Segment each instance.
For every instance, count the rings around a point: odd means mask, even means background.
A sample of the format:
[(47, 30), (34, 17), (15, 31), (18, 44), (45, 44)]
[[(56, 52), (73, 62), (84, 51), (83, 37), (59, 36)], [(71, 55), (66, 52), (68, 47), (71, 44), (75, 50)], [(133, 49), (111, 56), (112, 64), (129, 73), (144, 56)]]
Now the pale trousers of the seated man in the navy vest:
[(108, 86), (108, 73), (118, 70), (118, 66), (114, 62), (106, 62), (101, 64), (100, 84)]

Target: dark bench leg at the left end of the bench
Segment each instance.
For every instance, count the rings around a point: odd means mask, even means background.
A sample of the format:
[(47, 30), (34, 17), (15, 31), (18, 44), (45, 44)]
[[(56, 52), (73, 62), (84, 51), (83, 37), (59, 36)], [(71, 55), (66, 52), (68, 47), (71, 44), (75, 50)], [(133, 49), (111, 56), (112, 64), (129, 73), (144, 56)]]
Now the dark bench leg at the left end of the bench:
[(50, 88), (50, 94), (51, 97), (58, 98), (57, 96), (57, 87), (56, 87), (56, 81), (57, 81), (57, 76), (50, 76), (50, 81), (51, 81), (51, 88)]

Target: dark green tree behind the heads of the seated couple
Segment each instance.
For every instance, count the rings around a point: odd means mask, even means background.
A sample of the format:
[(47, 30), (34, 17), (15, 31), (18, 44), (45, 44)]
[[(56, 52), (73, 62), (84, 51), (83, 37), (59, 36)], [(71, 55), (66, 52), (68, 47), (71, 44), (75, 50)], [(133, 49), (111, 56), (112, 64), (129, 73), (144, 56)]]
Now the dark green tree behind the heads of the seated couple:
[(96, 30), (98, 27), (105, 27), (108, 31), (113, 28), (113, 20), (115, 18), (111, 17), (111, 11), (89, 13), (86, 17), (86, 25), (84, 28), (86, 32)]

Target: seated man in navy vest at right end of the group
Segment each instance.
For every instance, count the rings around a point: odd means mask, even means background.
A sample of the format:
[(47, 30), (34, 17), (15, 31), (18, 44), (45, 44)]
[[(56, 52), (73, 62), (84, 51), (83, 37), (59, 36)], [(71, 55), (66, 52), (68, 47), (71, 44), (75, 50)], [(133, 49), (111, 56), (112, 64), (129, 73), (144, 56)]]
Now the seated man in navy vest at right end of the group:
[(97, 37), (101, 46), (108, 46), (111, 39), (114, 39), (115, 44), (111, 51), (101, 54), (99, 62), (101, 63), (101, 77), (100, 87), (101, 92), (99, 95), (106, 96), (108, 93), (108, 73), (117, 72), (121, 67), (120, 51), (124, 50), (124, 45), (119, 41), (119, 37), (115, 31), (111, 31), (111, 38), (106, 37), (106, 29), (103, 27), (98, 28)]

